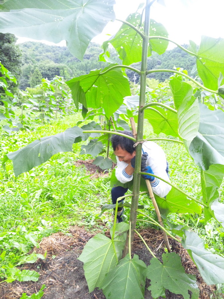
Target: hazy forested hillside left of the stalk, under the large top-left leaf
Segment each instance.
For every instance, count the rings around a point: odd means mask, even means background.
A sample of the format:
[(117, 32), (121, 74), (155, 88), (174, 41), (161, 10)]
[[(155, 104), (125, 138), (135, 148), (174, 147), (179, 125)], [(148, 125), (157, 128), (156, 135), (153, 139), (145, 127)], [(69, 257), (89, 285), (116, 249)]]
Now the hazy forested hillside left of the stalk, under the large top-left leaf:
[(48, 80), (52, 80), (55, 75), (68, 80), (86, 75), (90, 70), (107, 66), (106, 62), (98, 61), (102, 48), (96, 43), (89, 45), (83, 62), (75, 58), (67, 47), (33, 41), (21, 43), (19, 47), (23, 57), (22, 74), (19, 81), (22, 89), (30, 86), (35, 69), (38, 69), (42, 77)]

